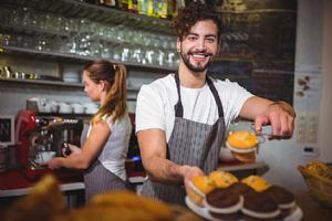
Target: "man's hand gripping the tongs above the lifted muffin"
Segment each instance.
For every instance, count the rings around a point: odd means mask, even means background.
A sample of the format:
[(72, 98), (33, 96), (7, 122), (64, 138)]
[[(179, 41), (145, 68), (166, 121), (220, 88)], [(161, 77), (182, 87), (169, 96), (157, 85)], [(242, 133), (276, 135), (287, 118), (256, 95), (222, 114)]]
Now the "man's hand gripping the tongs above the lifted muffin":
[(263, 125), (271, 125), (272, 134), (269, 139), (291, 138), (294, 130), (295, 113), (284, 102), (276, 102), (255, 118), (255, 130), (260, 135)]

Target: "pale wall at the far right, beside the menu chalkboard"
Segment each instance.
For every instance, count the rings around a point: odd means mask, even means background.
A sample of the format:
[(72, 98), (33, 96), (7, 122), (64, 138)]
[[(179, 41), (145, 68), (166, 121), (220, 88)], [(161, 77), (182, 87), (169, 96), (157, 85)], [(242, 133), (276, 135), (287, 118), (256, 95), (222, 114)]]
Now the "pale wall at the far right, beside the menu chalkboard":
[[(301, 192), (307, 189), (304, 180), (297, 169), (299, 165), (305, 165), (315, 159), (332, 162), (330, 141), (330, 125), (332, 124), (332, 27), (329, 22), (331, 19), (332, 2), (330, 0), (299, 0), (295, 75), (309, 73), (317, 77), (320, 90), (317, 92), (319, 97), (315, 99), (312, 97), (294, 99), (298, 118), (295, 134), (291, 140), (269, 141), (260, 148), (260, 157), (269, 165), (269, 171), (263, 177), (272, 183), (289, 188), (293, 192)], [(311, 115), (318, 118), (318, 139), (312, 143), (299, 143), (299, 116), (308, 119)], [(307, 130), (310, 129), (310, 126), (307, 125)], [(307, 146), (313, 147), (319, 155), (303, 155), (302, 150)]]

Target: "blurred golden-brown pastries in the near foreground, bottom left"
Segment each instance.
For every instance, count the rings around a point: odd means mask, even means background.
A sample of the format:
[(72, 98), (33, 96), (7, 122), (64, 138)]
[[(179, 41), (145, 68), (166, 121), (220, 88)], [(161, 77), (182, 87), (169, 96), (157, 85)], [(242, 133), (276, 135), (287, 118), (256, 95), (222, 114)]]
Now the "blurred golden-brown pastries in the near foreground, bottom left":
[(68, 209), (56, 179), (48, 175), (4, 211), (3, 221), (200, 221), (185, 207), (157, 202), (129, 191), (94, 196), (87, 206)]

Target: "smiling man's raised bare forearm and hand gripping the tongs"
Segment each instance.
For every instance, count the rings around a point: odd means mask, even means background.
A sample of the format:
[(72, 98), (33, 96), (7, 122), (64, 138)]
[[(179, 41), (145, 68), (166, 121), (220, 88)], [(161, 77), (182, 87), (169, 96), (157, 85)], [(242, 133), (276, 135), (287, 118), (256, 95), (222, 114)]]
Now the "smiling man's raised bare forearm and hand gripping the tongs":
[(295, 113), (286, 102), (271, 102), (258, 96), (250, 97), (243, 104), (240, 116), (255, 120), (255, 130), (259, 134), (263, 125), (271, 125), (270, 138), (290, 138), (294, 130)]

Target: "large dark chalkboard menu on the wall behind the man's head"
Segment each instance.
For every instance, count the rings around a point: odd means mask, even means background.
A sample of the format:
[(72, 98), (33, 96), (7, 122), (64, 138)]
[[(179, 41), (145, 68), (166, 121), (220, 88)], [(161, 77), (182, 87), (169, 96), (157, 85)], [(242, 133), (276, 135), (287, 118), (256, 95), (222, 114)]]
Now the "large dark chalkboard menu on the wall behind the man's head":
[(222, 21), (221, 52), (209, 73), (292, 103), (297, 0), (220, 0), (216, 11)]

